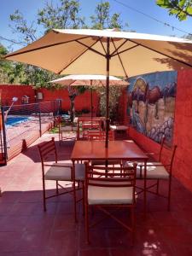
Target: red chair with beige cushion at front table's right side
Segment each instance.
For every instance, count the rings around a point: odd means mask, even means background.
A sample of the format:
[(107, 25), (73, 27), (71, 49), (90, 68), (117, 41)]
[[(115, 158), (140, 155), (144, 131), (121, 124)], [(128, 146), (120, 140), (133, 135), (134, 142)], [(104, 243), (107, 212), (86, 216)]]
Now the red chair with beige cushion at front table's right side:
[[(161, 144), (160, 144), (160, 153), (159, 153), (159, 159), (158, 161), (148, 161), (147, 163), (147, 173), (146, 173), (146, 179), (147, 180), (154, 180), (155, 183), (148, 186), (146, 188), (147, 192), (159, 195), (161, 197), (164, 197), (168, 200), (167, 209), (170, 211), (170, 204), (171, 204), (171, 189), (172, 189), (172, 164), (175, 157), (177, 145), (174, 145), (172, 147), (172, 153), (171, 158), (166, 160), (166, 164), (162, 163), (162, 158), (164, 157), (164, 152), (167, 149), (166, 148), (166, 139), (165, 137), (162, 137)], [(148, 155), (154, 156), (154, 153), (149, 153)], [(143, 164), (138, 163), (137, 167), (137, 179), (143, 179), (144, 177), (144, 166)], [(168, 182), (168, 189), (167, 189), (167, 195), (161, 195), (159, 192), (160, 187), (160, 180), (166, 180)], [(152, 191), (152, 188), (156, 188), (155, 192)]]

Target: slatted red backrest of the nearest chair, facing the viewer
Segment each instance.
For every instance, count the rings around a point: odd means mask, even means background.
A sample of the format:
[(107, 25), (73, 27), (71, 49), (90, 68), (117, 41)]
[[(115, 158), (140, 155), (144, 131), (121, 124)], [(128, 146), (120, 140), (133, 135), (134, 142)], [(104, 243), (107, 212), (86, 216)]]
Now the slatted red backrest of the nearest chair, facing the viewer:
[[(85, 165), (85, 189), (88, 186), (96, 187), (131, 187), (132, 199), (135, 202), (136, 172), (137, 163), (133, 166), (110, 167), (110, 166), (91, 166), (88, 162)], [(123, 170), (122, 170), (123, 169)], [(122, 172), (123, 171), (123, 172)], [(86, 191), (87, 192), (87, 191)]]

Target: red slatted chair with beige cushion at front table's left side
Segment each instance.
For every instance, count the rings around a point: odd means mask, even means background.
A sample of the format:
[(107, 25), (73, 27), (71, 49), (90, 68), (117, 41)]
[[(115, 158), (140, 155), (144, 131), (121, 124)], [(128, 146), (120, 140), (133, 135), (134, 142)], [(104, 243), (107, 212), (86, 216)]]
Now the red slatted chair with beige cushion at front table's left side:
[[(55, 197), (57, 195), (73, 193), (74, 216), (76, 220), (76, 190), (82, 187), (84, 191), (84, 165), (75, 164), (73, 169), (72, 163), (58, 163), (58, 155), (55, 147), (54, 138), (52, 138), (49, 142), (39, 144), (38, 150), (42, 164), (44, 211), (46, 211), (47, 199)], [(49, 163), (49, 161), (54, 163)], [(54, 195), (46, 195), (45, 181), (47, 180), (53, 180), (56, 183)], [(72, 189), (66, 189), (65, 187), (61, 186), (59, 181), (66, 181), (72, 183)], [(76, 188), (76, 183), (78, 183), (78, 188)], [(80, 186), (80, 184), (82, 186)], [(62, 190), (62, 192), (60, 190)]]

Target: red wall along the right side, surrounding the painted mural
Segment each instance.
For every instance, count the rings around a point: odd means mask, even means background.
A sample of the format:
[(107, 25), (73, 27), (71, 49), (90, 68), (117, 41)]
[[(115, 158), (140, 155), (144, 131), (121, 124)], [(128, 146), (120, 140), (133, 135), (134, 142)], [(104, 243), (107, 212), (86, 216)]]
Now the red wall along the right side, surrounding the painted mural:
[[(192, 71), (183, 70), (177, 73), (177, 96), (175, 108), (175, 123), (173, 144), (177, 145), (175, 160), (173, 163), (173, 176), (192, 191)], [(126, 100), (124, 102), (124, 114), (126, 113)], [(138, 145), (147, 152), (160, 151), (160, 144), (143, 136), (130, 127), (129, 135)], [(166, 150), (164, 162), (170, 157), (170, 151)]]

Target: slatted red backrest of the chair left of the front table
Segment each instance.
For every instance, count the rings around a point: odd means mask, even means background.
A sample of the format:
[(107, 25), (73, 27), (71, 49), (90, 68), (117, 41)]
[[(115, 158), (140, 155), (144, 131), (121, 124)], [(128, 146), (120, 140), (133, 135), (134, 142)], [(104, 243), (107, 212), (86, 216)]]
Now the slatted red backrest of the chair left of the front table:
[(44, 162), (49, 159), (49, 156), (54, 156), (55, 163), (57, 163), (57, 152), (55, 147), (54, 137), (49, 142), (44, 142), (38, 145), (38, 151), (41, 158), (42, 166), (44, 166)]

